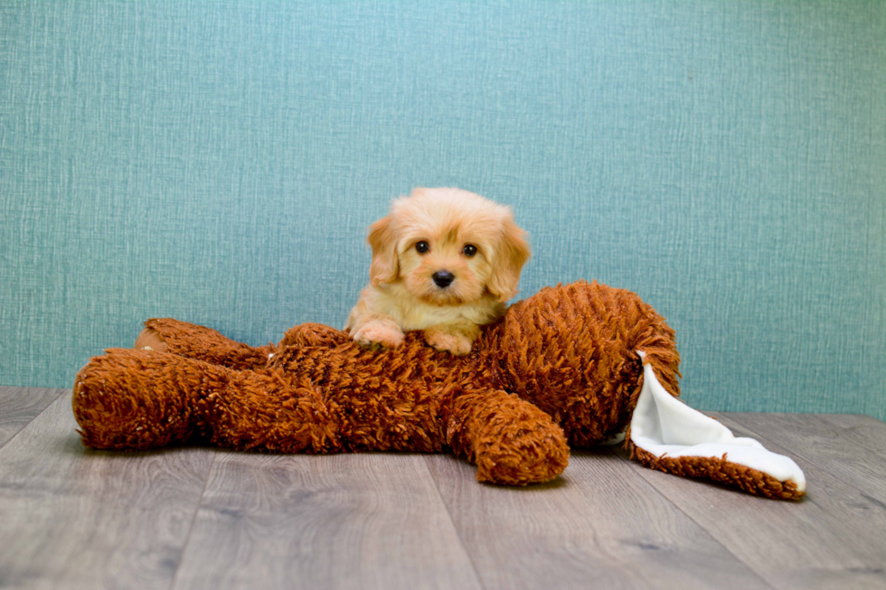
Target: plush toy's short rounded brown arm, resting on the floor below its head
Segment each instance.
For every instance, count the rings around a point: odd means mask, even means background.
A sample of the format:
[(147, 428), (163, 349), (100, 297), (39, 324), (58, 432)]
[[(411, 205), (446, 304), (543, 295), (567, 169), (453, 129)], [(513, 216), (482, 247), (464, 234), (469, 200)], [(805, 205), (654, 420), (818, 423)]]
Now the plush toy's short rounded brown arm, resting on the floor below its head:
[(480, 482), (547, 482), (569, 463), (570, 449), (561, 427), (516, 395), (488, 390), (461, 393), (445, 411), (447, 444), (476, 464)]

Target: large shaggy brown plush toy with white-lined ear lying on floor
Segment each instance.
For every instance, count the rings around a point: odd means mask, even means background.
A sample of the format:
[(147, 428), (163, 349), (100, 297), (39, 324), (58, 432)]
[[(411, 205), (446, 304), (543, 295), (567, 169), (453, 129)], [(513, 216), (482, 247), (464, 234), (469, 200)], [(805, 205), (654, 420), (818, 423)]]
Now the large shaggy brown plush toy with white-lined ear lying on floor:
[[(316, 323), (253, 348), (208, 328), (149, 320), (136, 348), (77, 375), (85, 445), (146, 449), (197, 439), (276, 453), (451, 450), (481, 482), (545, 482), (570, 446), (627, 433), (643, 464), (771, 498), (804, 494), (789, 458), (685, 406), (674, 331), (633, 293), (545, 288), (456, 357), (408, 333), (364, 350)], [(628, 428), (629, 426), (629, 428)]]

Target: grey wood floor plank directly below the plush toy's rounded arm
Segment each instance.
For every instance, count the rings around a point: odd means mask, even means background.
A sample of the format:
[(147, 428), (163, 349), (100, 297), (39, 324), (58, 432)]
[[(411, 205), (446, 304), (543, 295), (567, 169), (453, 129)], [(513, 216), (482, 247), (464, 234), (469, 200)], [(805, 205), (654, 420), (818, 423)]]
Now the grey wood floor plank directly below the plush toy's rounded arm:
[(607, 449), (575, 451), (560, 478), (526, 488), (426, 460), (487, 590), (770, 587)]

